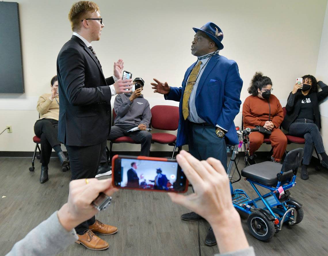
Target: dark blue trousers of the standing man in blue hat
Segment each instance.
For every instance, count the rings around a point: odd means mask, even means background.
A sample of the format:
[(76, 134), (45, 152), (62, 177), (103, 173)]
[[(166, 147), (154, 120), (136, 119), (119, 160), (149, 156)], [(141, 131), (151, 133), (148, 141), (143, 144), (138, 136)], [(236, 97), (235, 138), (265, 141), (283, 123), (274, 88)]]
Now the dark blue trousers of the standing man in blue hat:
[(200, 161), (214, 157), (221, 161), (227, 171), (227, 145), (224, 138), (217, 137), (215, 127), (191, 122), (189, 127), (189, 152)]

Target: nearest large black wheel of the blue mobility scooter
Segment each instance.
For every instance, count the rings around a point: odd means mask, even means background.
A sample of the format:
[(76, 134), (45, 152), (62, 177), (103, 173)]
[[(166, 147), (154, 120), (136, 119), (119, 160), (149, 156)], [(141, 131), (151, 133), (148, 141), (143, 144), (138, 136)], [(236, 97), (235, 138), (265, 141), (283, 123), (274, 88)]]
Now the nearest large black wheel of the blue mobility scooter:
[(247, 219), (247, 226), (251, 234), (258, 240), (266, 241), (275, 234), (275, 224), (262, 212), (252, 212)]

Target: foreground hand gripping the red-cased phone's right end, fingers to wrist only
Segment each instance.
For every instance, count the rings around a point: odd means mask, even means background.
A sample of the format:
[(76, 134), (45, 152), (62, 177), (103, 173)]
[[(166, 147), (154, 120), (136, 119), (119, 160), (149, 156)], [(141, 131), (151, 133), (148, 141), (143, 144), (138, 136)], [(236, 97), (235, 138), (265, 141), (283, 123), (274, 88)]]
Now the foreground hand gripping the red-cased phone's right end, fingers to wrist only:
[(227, 173), (221, 162), (208, 158), (199, 161), (182, 150), (176, 160), (193, 185), (195, 193), (188, 196), (170, 193), (174, 203), (187, 207), (204, 217), (210, 224), (220, 220), (220, 215), (235, 213)]

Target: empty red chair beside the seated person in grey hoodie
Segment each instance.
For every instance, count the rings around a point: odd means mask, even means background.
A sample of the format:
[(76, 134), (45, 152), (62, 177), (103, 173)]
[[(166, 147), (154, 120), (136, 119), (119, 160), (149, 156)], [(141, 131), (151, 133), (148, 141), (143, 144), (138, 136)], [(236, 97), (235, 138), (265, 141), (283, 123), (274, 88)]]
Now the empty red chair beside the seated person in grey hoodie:
[[(175, 106), (157, 105), (151, 109), (152, 127), (159, 130), (175, 131), (179, 125), (179, 108)], [(172, 159), (176, 149), (176, 135), (166, 132), (152, 133), (152, 142), (174, 146)], [(178, 148), (178, 152), (180, 151)]]

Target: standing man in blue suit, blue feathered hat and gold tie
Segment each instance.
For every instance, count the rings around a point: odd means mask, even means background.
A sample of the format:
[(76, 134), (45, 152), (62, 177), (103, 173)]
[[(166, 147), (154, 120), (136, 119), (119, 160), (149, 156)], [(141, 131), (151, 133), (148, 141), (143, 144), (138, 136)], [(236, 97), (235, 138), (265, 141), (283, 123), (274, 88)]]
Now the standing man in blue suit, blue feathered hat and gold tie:
[[(234, 119), (239, 112), (243, 81), (237, 63), (219, 55), (223, 49), (222, 30), (212, 22), (196, 32), (191, 53), (197, 57), (186, 71), (182, 87), (170, 87), (154, 79), (154, 92), (166, 100), (179, 101), (180, 119), (176, 144), (188, 144), (189, 152), (198, 160), (214, 157), (227, 168), (227, 146), (238, 144)], [(195, 212), (182, 214), (186, 221), (202, 219)], [(205, 244), (216, 245), (210, 228)]]

